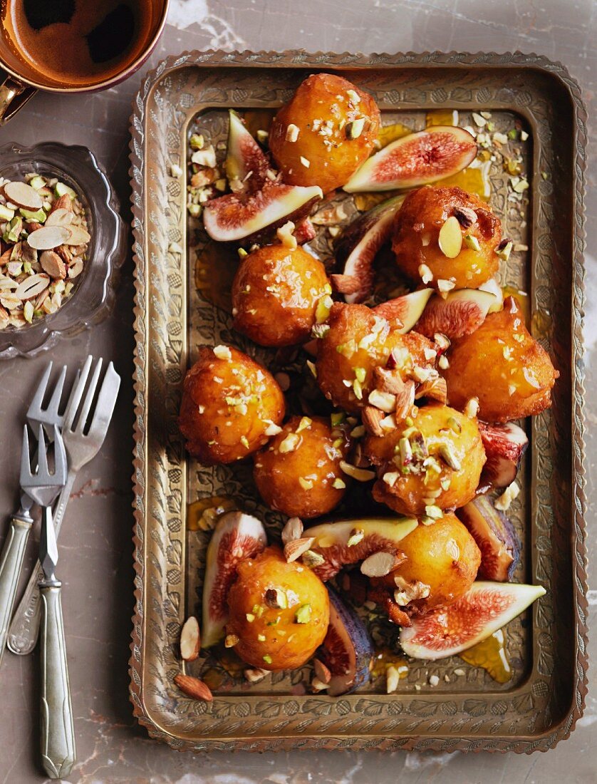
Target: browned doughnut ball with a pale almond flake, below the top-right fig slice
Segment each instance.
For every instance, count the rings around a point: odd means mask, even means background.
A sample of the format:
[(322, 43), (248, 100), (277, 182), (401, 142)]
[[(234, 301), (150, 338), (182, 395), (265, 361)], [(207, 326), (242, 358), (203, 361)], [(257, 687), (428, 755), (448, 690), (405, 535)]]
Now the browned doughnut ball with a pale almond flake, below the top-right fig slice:
[[(458, 219), (463, 241), (458, 256), (450, 259), (439, 239), (441, 227), (452, 216)], [(465, 240), (467, 235), (471, 239)], [(420, 283), (419, 267), (425, 264), (433, 275), (425, 285), (435, 289), (442, 280), (455, 282), (456, 289), (478, 289), (498, 271), (500, 242), (501, 223), (490, 205), (459, 187), (425, 185), (412, 191), (394, 220), (392, 249), (398, 267)], [(473, 247), (476, 243), (479, 250)]]

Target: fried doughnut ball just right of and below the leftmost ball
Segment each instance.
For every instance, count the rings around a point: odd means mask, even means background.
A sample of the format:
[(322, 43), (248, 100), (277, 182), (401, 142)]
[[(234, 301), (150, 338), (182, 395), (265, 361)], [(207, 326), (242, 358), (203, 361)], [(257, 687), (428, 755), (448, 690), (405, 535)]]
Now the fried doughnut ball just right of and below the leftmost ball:
[(255, 455), (255, 484), (272, 509), (288, 517), (318, 517), (338, 506), (347, 477), (349, 437), (322, 416), (293, 416), (270, 444)]

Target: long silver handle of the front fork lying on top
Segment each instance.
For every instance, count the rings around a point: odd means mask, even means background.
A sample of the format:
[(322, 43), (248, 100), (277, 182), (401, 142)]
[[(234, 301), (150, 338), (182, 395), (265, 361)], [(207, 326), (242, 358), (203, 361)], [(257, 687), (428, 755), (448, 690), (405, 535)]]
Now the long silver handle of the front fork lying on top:
[(50, 779), (64, 779), (74, 765), (74, 720), (68, 682), (61, 583), (40, 586), (42, 595), (42, 764)]

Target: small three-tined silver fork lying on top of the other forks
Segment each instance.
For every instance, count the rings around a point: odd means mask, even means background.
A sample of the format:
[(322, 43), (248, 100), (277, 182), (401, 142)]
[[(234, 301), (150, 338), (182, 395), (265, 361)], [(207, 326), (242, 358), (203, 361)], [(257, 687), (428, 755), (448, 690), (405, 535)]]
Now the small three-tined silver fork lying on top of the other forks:
[(67, 481), (67, 456), (60, 430), (52, 428), (54, 473), (50, 474), (45, 453), (43, 425), (39, 425), (38, 470), (31, 471), (27, 425), (24, 427), (23, 456), (20, 465), (21, 487), (43, 509), (39, 557), (43, 564), (40, 590), (44, 607), (42, 632), (42, 763), (50, 779), (62, 779), (74, 765), (74, 722), (71, 688), (68, 682), (67, 648), (64, 639), (62, 583), (56, 579), (58, 548), (52, 521), (52, 503)]

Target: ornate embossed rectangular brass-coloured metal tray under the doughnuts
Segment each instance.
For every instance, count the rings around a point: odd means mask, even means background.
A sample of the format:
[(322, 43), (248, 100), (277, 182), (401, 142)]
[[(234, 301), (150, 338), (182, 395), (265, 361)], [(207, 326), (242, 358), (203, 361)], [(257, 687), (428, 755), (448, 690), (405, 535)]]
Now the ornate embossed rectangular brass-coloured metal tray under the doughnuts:
[[(272, 354), (230, 328), (230, 269), (208, 263), (210, 249), (187, 224), (188, 138), (199, 129), (225, 139), (226, 111), (271, 110), (309, 72), (338, 71), (374, 94), (382, 122), (420, 129), (430, 110), (490, 111), (494, 127), (526, 129), (530, 189), (508, 198), (507, 178), (488, 163), (494, 209), (523, 252), (502, 265), (502, 283), (529, 292), (530, 323), (559, 368), (551, 411), (526, 423), (530, 456), (513, 507), (523, 538), (516, 582), (548, 593), (508, 626), (513, 676), (493, 681), (460, 659), (409, 662), (398, 691), (374, 678), (341, 698), (306, 693), (305, 673), (259, 684), (232, 664), (203, 659), (212, 703), (186, 698), (181, 623), (201, 604), (208, 532), (194, 530), (189, 505), (211, 496), (266, 519), (247, 465), (205, 469), (186, 456), (176, 418), (186, 368), (202, 343), (233, 343), (266, 364)], [(586, 114), (566, 69), (523, 54), (185, 53), (143, 82), (132, 114), (131, 178), (136, 261), (135, 597), (131, 699), (150, 735), (179, 750), (433, 749), (547, 750), (581, 716), (587, 655), (584, 593), (583, 187)], [(466, 119), (465, 123), (466, 124)], [(220, 145), (222, 147), (222, 145)], [(182, 174), (180, 172), (183, 172)], [(342, 197), (341, 197), (342, 198)], [(347, 212), (354, 211), (346, 198)], [(322, 256), (329, 247), (317, 240)], [(530, 250), (524, 252), (524, 246)], [(227, 276), (227, 277), (226, 277)], [(293, 372), (292, 358), (285, 370)], [(289, 363), (289, 364), (288, 364)], [(280, 365), (282, 367), (282, 365)], [(278, 369), (278, 368), (276, 368)], [(191, 507), (193, 508), (193, 507)], [(195, 670), (195, 666), (197, 669)], [(432, 665), (432, 666), (431, 666)], [(464, 670), (464, 675), (457, 674)], [(440, 679), (435, 687), (429, 676)], [(432, 679), (435, 681), (435, 679)]]

